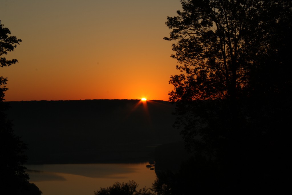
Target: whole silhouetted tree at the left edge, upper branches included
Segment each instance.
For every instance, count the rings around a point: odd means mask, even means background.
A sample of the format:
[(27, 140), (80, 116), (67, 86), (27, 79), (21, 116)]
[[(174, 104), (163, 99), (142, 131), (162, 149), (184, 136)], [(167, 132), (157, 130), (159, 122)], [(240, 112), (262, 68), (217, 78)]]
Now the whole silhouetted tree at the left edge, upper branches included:
[[(0, 56), (13, 51), (20, 39), (9, 36), (11, 32), (4, 28), (0, 21)], [(15, 64), (17, 60), (6, 60), (0, 58), (0, 67)], [(27, 145), (20, 137), (14, 134), (12, 123), (7, 119), (5, 111), (8, 109), (7, 102), (4, 102), (7, 78), (0, 77), (0, 194), (42, 194), (38, 187), (29, 183), (29, 176), (25, 173), (23, 166), (27, 161), (24, 151)]]

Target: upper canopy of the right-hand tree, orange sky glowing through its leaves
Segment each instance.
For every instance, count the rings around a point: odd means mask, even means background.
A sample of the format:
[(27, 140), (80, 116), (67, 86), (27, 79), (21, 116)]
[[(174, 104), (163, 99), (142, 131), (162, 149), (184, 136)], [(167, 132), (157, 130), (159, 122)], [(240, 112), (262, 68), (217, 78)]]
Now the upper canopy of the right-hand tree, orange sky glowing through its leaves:
[(291, 1), (181, 3), (183, 11), (167, 18), (172, 31), (164, 38), (176, 41), (171, 57), (178, 60), (177, 69), (183, 72), (171, 76), (175, 89), (170, 100), (236, 99), (254, 88), (251, 77), (263, 60), (272, 57), (281, 64), (285, 59), (276, 56), (286, 53), (279, 47), (289, 47), (287, 36), (282, 35), (291, 32)]

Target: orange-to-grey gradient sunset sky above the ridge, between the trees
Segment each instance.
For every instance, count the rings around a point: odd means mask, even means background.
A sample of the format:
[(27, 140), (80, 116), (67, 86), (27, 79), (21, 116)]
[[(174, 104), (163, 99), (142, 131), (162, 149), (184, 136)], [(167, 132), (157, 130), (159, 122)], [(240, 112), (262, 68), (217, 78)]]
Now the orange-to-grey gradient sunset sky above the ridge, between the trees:
[(179, 0), (0, 0), (0, 20), (22, 39), (4, 56), (6, 101), (168, 100), (177, 74), (166, 17)]

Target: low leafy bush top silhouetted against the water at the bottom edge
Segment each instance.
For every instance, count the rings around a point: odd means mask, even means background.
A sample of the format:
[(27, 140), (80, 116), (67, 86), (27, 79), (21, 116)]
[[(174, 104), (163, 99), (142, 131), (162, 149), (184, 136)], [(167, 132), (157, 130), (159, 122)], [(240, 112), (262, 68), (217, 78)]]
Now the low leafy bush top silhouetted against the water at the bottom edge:
[(150, 190), (143, 187), (139, 191), (136, 190), (138, 184), (133, 180), (126, 183), (116, 182), (112, 186), (100, 188), (94, 192), (95, 195), (152, 195)]

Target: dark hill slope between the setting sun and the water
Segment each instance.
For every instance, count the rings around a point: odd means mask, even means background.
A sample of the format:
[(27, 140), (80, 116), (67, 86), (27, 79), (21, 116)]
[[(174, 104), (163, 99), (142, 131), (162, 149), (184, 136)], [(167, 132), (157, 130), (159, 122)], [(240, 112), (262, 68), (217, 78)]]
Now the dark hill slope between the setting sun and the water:
[(145, 161), (157, 144), (181, 140), (165, 101), (10, 102), (8, 118), (29, 144), (29, 163)]

